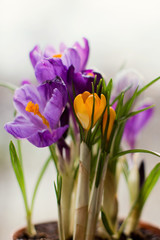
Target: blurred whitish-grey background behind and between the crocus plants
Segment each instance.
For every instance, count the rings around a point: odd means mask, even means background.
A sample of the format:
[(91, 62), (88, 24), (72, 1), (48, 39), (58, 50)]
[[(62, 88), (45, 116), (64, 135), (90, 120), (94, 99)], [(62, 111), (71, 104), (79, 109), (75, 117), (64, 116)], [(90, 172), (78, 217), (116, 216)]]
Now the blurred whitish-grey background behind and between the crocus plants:
[[(89, 39), (88, 67), (96, 67), (106, 80), (123, 66), (136, 69), (145, 83), (160, 75), (160, 2), (159, 0), (0, 0), (0, 81), (19, 85), (23, 79), (35, 81), (29, 51), (39, 44), (58, 48), (61, 41), (71, 46), (82, 37)], [(160, 83), (144, 97), (155, 102), (155, 115), (139, 136), (137, 146), (160, 152)], [(25, 225), (24, 206), (11, 168), (5, 122), (13, 119), (12, 93), (0, 87), (0, 234), (10, 239), (11, 233)], [(49, 154), (22, 143), (28, 196), (36, 176)], [(141, 155), (148, 171), (159, 161)], [(34, 222), (57, 218), (52, 164), (40, 186), (34, 209)], [(128, 192), (120, 181), (120, 216), (128, 209)], [(160, 227), (160, 181), (145, 206), (142, 219)]]

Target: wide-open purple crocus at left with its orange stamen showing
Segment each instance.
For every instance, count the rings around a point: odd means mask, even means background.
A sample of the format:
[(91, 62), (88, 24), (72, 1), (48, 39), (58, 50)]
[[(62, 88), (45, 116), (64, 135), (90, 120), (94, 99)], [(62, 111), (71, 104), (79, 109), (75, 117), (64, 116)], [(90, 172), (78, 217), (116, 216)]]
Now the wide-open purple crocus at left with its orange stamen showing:
[(15, 91), (14, 105), (18, 113), (5, 129), (17, 139), (27, 139), (37, 147), (57, 142), (68, 125), (59, 126), (67, 101), (62, 80), (47, 81), (39, 87), (25, 84)]

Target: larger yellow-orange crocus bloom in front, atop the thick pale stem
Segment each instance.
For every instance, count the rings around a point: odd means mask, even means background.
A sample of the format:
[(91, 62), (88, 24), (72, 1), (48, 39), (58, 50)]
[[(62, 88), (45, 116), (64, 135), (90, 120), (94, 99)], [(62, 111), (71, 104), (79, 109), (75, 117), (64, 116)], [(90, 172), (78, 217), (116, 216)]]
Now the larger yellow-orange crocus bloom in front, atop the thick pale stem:
[(88, 91), (85, 91), (84, 93), (77, 95), (74, 99), (74, 110), (76, 116), (78, 117), (82, 127), (86, 130), (89, 130), (91, 127), (93, 98), (95, 98), (93, 117), (94, 126), (106, 107), (105, 96), (101, 94), (101, 98), (99, 98), (96, 93), (91, 94)]

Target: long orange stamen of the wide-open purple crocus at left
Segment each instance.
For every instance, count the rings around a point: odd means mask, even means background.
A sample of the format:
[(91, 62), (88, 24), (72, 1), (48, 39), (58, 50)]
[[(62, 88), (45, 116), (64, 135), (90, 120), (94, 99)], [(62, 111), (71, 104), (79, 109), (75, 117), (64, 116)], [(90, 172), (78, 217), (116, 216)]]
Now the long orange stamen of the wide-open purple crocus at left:
[(26, 110), (27, 112), (33, 112), (34, 115), (38, 115), (38, 116), (42, 119), (43, 123), (49, 128), (49, 122), (48, 122), (47, 119), (40, 113), (40, 111), (39, 111), (39, 105), (38, 105), (37, 103), (34, 104), (34, 103), (32, 103), (32, 101), (28, 102), (25, 110)]

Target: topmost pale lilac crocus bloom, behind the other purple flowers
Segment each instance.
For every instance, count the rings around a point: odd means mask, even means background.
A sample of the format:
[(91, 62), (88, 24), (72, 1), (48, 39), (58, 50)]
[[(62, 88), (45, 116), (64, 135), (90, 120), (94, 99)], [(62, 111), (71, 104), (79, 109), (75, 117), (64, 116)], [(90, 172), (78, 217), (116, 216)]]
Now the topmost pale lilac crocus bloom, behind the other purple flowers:
[(44, 53), (40, 50), (39, 46), (35, 46), (30, 52), (30, 59), (33, 67), (43, 58), (61, 59), (62, 63), (69, 68), (74, 66), (75, 71), (79, 72), (85, 69), (88, 56), (89, 56), (89, 44), (88, 40), (83, 38), (84, 47), (76, 42), (72, 48), (67, 48), (64, 44), (60, 45), (59, 52), (57, 52), (52, 46), (46, 47)]

